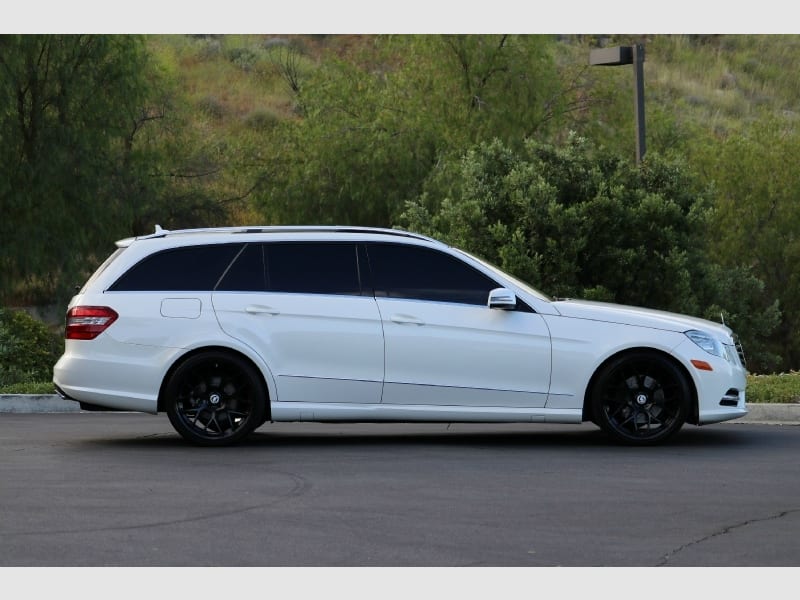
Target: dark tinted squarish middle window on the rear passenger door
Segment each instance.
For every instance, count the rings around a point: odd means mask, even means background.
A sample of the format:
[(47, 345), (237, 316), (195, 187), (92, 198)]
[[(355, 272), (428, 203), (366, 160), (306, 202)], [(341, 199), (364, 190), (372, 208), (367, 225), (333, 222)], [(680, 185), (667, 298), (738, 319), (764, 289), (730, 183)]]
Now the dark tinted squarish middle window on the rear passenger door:
[(360, 295), (355, 244), (266, 244), (267, 289), (296, 294)]

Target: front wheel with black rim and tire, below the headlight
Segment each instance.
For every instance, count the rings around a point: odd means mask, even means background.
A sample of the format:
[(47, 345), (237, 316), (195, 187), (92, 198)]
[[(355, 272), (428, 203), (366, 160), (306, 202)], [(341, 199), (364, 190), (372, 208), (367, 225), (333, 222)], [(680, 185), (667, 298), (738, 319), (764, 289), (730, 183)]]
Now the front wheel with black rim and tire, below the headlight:
[(618, 442), (659, 444), (683, 426), (691, 399), (686, 375), (669, 358), (628, 354), (611, 360), (595, 378), (593, 421)]

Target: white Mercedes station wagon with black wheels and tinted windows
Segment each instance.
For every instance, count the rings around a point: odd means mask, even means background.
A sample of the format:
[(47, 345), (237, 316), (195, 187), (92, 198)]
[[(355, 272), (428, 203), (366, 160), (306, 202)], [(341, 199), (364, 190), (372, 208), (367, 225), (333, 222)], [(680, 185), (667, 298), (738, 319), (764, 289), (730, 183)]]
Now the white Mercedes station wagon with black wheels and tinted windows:
[(556, 300), (398, 230), (156, 232), (72, 299), (54, 369), (85, 410), (224, 445), (267, 421), (581, 423), (655, 444), (747, 414), (730, 329)]

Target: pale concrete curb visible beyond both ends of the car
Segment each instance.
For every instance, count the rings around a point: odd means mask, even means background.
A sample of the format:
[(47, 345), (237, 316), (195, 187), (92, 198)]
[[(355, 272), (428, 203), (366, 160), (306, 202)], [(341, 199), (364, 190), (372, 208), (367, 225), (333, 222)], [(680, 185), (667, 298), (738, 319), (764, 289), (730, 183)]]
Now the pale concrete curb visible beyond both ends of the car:
[[(731, 423), (800, 425), (800, 404), (748, 404), (747, 416)], [(74, 413), (80, 405), (56, 394), (0, 394), (0, 413)]]

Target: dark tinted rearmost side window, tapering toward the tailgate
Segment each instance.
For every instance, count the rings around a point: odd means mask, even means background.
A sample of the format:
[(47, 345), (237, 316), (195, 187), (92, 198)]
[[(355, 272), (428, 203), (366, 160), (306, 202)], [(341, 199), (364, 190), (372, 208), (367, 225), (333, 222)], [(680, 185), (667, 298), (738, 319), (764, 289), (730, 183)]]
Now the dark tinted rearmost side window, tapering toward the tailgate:
[(211, 291), (242, 244), (173, 248), (139, 261), (109, 288), (111, 291)]

